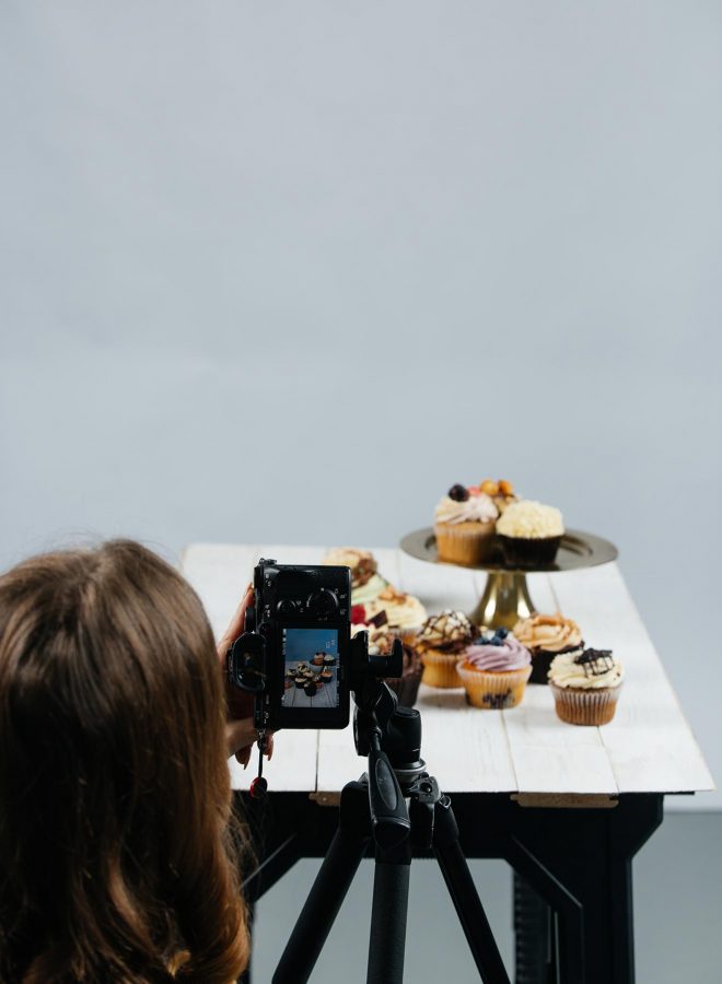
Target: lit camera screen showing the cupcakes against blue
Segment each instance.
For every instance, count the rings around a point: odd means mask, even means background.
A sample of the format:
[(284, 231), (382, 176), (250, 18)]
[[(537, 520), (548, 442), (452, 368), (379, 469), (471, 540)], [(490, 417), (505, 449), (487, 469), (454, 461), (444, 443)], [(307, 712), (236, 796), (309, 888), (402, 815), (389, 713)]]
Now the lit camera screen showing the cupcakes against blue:
[(283, 706), (338, 707), (338, 630), (283, 629)]

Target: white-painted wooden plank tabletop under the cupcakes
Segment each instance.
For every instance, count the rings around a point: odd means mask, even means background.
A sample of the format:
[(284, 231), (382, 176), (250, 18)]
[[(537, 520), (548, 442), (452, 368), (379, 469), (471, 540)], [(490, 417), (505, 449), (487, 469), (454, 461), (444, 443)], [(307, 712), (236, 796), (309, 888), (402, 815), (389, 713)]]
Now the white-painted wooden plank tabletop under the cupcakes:
[[(379, 569), (430, 612), (470, 611), (484, 576), (434, 566), (393, 549), (374, 549)], [(325, 548), (195, 544), (183, 570), (219, 635), (237, 605), (258, 557), (280, 563), (318, 563)], [(539, 794), (692, 792), (713, 788), (691, 730), (616, 564), (568, 574), (531, 575), (540, 611), (561, 610), (580, 623), (587, 644), (622, 658), (627, 678), (617, 716), (603, 728), (560, 722), (546, 687), (529, 684), (510, 711), (469, 707), (462, 690), (421, 687), (417, 706), (423, 754), (444, 789)], [(336, 793), (361, 774), (351, 728), (293, 730), (277, 738), (267, 773), (272, 788)], [(255, 759), (253, 771), (255, 772)], [(234, 788), (246, 788), (252, 769), (231, 765)]]

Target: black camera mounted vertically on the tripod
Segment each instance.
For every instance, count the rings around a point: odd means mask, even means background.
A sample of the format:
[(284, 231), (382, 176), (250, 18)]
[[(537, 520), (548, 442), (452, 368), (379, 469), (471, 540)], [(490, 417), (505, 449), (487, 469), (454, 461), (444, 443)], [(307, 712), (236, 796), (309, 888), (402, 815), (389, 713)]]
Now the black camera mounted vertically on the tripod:
[(255, 695), (256, 727), (345, 728), (350, 692), (369, 677), (400, 677), (400, 643), (370, 656), (351, 640), (351, 572), (259, 560), (255, 605), (228, 654), (229, 679)]

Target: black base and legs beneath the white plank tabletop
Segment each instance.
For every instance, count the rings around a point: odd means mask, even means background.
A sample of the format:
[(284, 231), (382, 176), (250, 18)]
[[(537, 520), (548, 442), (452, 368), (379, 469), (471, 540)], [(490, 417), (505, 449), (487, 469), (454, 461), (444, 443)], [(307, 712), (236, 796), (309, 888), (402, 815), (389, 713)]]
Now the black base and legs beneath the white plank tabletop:
[[(260, 805), (236, 796), (261, 859), (244, 882), (253, 905), (296, 860), (325, 856), (338, 809), (305, 793), (271, 793)], [(662, 795), (574, 809), (525, 807), (508, 794), (452, 800), (466, 857), (514, 869), (516, 984), (632, 984), (631, 862), (662, 822)]]

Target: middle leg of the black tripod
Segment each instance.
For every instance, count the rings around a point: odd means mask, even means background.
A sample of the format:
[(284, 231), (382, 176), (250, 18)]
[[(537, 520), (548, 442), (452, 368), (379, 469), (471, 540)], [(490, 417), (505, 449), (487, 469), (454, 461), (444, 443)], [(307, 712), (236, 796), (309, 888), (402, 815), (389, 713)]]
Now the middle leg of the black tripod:
[(406, 950), (411, 852), (399, 860), (376, 857), (366, 984), (401, 984)]

